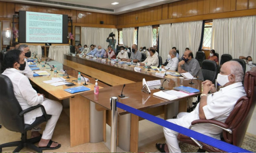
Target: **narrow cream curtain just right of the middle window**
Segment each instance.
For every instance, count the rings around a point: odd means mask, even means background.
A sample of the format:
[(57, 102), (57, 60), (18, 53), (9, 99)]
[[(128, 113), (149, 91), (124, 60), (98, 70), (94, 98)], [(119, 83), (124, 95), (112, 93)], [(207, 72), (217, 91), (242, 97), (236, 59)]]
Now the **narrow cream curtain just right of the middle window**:
[(159, 55), (162, 57), (163, 61), (167, 59), (169, 51), (172, 46), (171, 42), (171, 23), (160, 24), (159, 26)]

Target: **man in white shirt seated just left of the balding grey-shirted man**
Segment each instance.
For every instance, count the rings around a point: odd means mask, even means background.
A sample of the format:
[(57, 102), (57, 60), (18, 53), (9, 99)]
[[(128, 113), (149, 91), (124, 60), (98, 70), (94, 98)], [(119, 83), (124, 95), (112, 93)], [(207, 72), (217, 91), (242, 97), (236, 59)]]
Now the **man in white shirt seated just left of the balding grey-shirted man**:
[[(169, 51), (171, 58), (167, 61), (168, 64), (164, 67), (165, 70), (177, 71), (179, 59), (176, 56), (177, 52), (175, 49)], [(162, 66), (163, 67), (163, 66)]]

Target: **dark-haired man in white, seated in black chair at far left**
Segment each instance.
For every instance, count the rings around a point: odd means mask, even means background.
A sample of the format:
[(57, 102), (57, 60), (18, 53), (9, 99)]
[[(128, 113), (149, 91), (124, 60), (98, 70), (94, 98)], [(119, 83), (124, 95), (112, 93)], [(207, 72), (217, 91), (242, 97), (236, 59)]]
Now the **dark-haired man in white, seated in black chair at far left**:
[[(62, 112), (62, 104), (45, 98), (43, 94), (36, 93), (36, 90), (32, 88), (28, 78), (20, 72), (21, 64), (24, 62), (24, 53), (22, 51), (8, 51), (4, 59), (6, 69), (2, 74), (8, 76), (12, 81), (14, 95), (23, 110), (42, 104), (45, 107), (46, 113), (52, 115), (45, 125), (45, 130), (43, 131), (43, 135), (38, 146), (42, 150), (57, 149), (61, 145), (51, 139), (55, 125), (59, 119), (60, 113)], [(24, 123), (32, 124), (37, 117), (42, 115), (43, 113), (40, 108), (35, 109), (34, 111), (24, 115)], [(38, 131), (31, 131), (31, 138), (40, 136)]]

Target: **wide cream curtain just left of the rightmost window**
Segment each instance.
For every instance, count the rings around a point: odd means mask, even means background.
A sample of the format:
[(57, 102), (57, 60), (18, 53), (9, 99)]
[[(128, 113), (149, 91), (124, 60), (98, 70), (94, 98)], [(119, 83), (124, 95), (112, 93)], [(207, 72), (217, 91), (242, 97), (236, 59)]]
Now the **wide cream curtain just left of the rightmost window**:
[(199, 49), (203, 21), (191, 21), (183, 23), (172, 23), (170, 46), (175, 46), (180, 51), (180, 58), (188, 47), (194, 57)]

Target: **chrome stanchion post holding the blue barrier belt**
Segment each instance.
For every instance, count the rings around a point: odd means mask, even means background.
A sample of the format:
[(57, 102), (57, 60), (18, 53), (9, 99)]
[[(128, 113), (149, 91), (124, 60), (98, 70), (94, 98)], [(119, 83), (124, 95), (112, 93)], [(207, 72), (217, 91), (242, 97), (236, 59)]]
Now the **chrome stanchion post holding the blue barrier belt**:
[(117, 129), (117, 111), (116, 111), (116, 102), (118, 101), (117, 97), (111, 97), (111, 144), (110, 152), (116, 153), (116, 129)]

